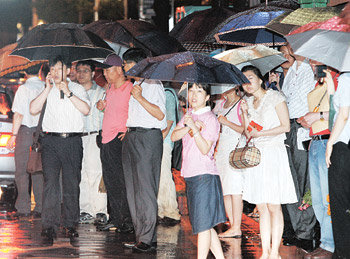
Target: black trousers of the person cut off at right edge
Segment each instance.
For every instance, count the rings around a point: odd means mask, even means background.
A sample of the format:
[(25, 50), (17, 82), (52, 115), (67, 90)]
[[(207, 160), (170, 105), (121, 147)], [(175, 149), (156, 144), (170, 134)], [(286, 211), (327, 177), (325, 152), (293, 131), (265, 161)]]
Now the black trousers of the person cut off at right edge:
[(333, 146), (328, 170), (329, 198), (336, 258), (350, 258), (350, 149)]

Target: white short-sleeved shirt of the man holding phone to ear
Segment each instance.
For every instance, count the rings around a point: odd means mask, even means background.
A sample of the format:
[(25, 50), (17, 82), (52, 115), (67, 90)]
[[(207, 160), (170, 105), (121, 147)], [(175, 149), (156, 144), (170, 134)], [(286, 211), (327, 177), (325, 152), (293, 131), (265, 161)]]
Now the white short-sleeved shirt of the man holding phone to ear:
[[(76, 97), (90, 106), (88, 94), (82, 85), (69, 80), (68, 88)], [(84, 115), (75, 108), (70, 98), (65, 96), (64, 99), (61, 99), (60, 90), (53, 86), (47, 96), (43, 131), (59, 133), (83, 132), (83, 117)]]

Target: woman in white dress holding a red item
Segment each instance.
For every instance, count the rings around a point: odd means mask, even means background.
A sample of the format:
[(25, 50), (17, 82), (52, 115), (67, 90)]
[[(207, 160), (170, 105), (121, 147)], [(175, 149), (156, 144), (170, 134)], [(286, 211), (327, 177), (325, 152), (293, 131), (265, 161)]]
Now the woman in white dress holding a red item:
[(279, 246), (283, 233), (281, 204), (297, 202), (295, 187), (289, 168), (284, 140), (289, 131), (289, 115), (285, 97), (274, 90), (264, 90), (260, 71), (253, 66), (242, 68), (250, 81), (244, 84), (244, 91), (250, 95), (242, 102), (245, 125), (255, 122), (262, 130), (255, 128), (246, 136), (261, 152), (260, 164), (246, 169), (243, 199), (256, 204), (260, 214), (262, 256), (280, 258)]

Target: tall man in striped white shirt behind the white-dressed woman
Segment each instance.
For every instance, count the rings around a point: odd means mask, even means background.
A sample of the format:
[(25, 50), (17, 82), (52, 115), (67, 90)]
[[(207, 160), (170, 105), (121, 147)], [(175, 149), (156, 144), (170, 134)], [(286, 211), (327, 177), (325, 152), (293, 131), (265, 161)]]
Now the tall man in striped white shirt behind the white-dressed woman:
[[(289, 45), (288, 47), (290, 48)], [(285, 143), (298, 202), (287, 204), (286, 208), (296, 237), (296, 240), (292, 241), (291, 244), (310, 252), (314, 249), (315, 213), (312, 207), (306, 210), (299, 209), (305, 193), (310, 190), (308, 154), (301, 145), (301, 141), (308, 137), (308, 130), (303, 128), (297, 120), (309, 111), (307, 95), (314, 89), (316, 80), (309, 62), (305, 58), (295, 55), (291, 49), (289, 50), (296, 60), (289, 68), (282, 88), (286, 96), (290, 118), (290, 132), (286, 134)]]

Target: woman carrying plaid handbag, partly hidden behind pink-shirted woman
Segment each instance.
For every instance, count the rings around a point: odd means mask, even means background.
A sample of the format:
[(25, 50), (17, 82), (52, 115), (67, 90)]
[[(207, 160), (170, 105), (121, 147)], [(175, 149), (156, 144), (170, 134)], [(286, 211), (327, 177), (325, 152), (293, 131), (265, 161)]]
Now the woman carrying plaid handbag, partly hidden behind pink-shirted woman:
[(230, 221), (230, 228), (219, 234), (219, 237), (241, 238), (243, 174), (242, 170), (234, 169), (229, 164), (230, 152), (236, 147), (244, 130), (241, 119), (241, 97), (237, 95), (236, 88), (226, 91), (223, 96), (213, 110), (221, 124), (215, 159), (220, 173), (225, 211)]

